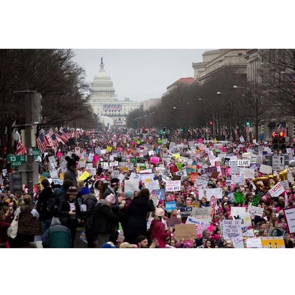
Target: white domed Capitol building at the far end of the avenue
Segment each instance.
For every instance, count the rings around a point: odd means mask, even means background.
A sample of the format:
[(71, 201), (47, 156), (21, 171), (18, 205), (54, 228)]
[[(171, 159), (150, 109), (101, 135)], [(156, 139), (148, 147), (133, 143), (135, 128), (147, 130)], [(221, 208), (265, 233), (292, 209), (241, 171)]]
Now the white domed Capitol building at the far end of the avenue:
[(102, 58), (99, 72), (94, 75), (91, 83), (89, 104), (103, 125), (118, 127), (125, 127), (128, 114), (144, 105), (143, 102), (129, 98), (118, 101), (113, 81), (104, 69)]

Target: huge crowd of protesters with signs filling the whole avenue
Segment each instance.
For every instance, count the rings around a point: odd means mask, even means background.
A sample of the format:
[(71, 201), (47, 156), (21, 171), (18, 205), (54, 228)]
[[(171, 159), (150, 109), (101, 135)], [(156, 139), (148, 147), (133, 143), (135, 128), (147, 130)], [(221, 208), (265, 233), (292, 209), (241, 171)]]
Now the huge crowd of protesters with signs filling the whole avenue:
[(291, 145), (275, 171), (269, 142), (174, 140), (111, 129), (47, 142), (33, 194), (1, 174), (0, 247), (295, 247)]

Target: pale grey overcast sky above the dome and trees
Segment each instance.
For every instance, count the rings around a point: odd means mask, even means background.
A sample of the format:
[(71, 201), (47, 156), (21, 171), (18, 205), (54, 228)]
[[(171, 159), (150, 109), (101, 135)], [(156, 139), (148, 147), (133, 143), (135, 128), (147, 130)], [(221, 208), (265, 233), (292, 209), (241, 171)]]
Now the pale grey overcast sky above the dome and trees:
[(193, 62), (208, 49), (76, 49), (74, 60), (91, 82), (100, 59), (111, 76), (118, 100), (160, 98), (180, 78), (194, 77)]

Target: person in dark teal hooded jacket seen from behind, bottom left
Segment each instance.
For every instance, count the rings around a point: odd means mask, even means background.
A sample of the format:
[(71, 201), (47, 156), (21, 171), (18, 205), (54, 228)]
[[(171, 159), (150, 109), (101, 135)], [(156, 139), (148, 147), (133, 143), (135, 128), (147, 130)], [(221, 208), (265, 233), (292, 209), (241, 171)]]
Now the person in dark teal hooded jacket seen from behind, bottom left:
[(59, 218), (53, 217), (50, 228), (42, 236), (43, 248), (71, 248), (70, 230), (60, 224)]

